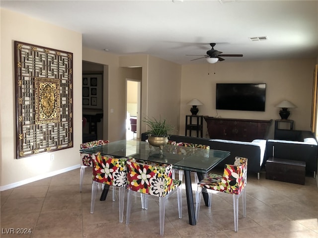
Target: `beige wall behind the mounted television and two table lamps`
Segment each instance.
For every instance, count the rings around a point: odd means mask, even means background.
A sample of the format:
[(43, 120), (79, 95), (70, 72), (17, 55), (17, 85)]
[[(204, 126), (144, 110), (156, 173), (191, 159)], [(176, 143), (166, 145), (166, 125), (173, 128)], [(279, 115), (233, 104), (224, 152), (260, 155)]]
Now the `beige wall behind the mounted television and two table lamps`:
[[(313, 70), (316, 59), (266, 60), (252, 62), (217, 62), (182, 65), (180, 129), (184, 134), (185, 115), (191, 106), (186, 105), (197, 98), (204, 105), (198, 106), (200, 115), (238, 119), (280, 119), (275, 105), (283, 100), (294, 103), (289, 119), (295, 121), (298, 130), (310, 130)], [(212, 70), (213, 68), (213, 70)], [(265, 112), (229, 111), (215, 109), (216, 83), (266, 83)], [(204, 135), (206, 123), (204, 121)]]

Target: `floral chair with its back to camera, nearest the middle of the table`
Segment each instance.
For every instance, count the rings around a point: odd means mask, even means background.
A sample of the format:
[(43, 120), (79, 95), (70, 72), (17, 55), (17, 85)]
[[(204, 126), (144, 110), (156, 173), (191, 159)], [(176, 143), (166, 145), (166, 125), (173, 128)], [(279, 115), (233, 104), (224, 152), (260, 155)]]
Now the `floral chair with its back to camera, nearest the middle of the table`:
[[(152, 166), (143, 164), (135, 159), (127, 161), (127, 215), (126, 224), (129, 224), (132, 206), (132, 195), (159, 200), (160, 235), (164, 231), (165, 201), (174, 191), (177, 191), (178, 213), (182, 217), (181, 181), (172, 179), (172, 165)], [(148, 205), (146, 206), (147, 209)]]

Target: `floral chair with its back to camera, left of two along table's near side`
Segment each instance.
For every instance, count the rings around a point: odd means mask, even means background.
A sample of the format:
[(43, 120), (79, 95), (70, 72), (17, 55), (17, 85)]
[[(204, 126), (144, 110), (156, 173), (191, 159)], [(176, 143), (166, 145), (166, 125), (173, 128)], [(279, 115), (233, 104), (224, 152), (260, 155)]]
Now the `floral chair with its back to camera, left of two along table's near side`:
[(119, 222), (123, 222), (124, 197), (127, 188), (127, 158), (110, 158), (98, 153), (93, 155), (91, 161), (93, 183), (91, 187), (90, 213), (94, 213), (96, 190), (98, 184), (101, 183), (108, 186), (108, 189), (119, 191)]

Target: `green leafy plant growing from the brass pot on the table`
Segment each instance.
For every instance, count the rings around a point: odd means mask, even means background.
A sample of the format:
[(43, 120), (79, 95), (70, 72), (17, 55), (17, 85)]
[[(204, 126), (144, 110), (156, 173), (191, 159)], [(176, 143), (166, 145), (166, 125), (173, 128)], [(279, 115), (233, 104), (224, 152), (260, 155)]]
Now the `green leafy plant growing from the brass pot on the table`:
[(161, 118), (159, 120), (155, 118), (145, 118), (144, 121), (151, 128), (146, 132), (147, 135), (169, 137), (169, 132), (174, 129), (174, 127), (168, 124), (165, 119), (161, 121)]

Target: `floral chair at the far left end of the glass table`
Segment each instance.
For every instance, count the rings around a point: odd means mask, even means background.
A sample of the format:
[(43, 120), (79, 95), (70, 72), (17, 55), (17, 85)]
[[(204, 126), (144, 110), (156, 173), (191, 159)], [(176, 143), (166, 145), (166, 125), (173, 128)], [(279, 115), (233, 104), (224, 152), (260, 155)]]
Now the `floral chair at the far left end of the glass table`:
[[(108, 144), (109, 140), (94, 140), (86, 143), (80, 144), (80, 149), (87, 149), (95, 146)], [(92, 155), (86, 153), (80, 153), (80, 175), (79, 175), (79, 191), (81, 192), (83, 186), (83, 177), (85, 173), (85, 169), (87, 167), (92, 167)]]

